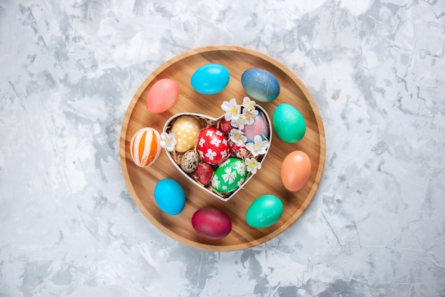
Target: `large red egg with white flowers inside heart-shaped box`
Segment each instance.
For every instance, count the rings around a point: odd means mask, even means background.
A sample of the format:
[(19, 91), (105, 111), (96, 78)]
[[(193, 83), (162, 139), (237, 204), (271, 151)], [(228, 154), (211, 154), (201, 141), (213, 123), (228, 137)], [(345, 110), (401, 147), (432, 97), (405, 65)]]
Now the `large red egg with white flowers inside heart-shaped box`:
[(229, 157), (229, 142), (215, 127), (206, 127), (198, 137), (198, 152), (204, 162), (219, 165)]

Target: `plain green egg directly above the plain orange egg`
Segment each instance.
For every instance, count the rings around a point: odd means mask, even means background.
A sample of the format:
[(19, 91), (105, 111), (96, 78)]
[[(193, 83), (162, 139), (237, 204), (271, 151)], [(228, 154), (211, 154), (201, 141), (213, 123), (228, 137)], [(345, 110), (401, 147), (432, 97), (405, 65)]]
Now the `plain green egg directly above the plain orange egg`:
[(288, 143), (299, 142), (306, 133), (303, 115), (294, 106), (286, 103), (275, 108), (272, 125), (278, 137)]

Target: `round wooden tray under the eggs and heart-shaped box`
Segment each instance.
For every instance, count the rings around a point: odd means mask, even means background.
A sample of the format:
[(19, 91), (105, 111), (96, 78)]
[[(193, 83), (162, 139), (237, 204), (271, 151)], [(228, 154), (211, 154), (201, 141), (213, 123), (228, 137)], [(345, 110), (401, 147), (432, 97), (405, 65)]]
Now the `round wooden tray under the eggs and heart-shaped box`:
[[(196, 92), (190, 84), (191, 75), (200, 66), (219, 63), (230, 73), (229, 85), (215, 95)], [(272, 73), (281, 86), (278, 98), (272, 103), (258, 103), (272, 120), (277, 105), (294, 105), (306, 120), (306, 135), (296, 144), (289, 144), (274, 135), (272, 146), (262, 169), (243, 185), (232, 199), (225, 202), (192, 184), (168, 159), (165, 150), (150, 167), (134, 165), (129, 143), (141, 127), (154, 127), (159, 132), (171, 116), (178, 113), (202, 113), (212, 118), (223, 115), (221, 103), (235, 98), (242, 103), (247, 93), (241, 85), (241, 75), (249, 68), (262, 68)], [(179, 97), (173, 108), (165, 113), (152, 114), (146, 110), (146, 95), (151, 86), (161, 78), (171, 78), (178, 83)], [(280, 178), (284, 157), (294, 150), (302, 150), (311, 158), (312, 171), (309, 181), (298, 192), (287, 191)], [(149, 221), (163, 233), (188, 246), (211, 251), (235, 251), (262, 244), (289, 228), (311, 203), (323, 174), (326, 142), (323, 122), (315, 101), (301, 80), (288, 68), (264, 53), (239, 46), (206, 46), (182, 53), (164, 63), (142, 83), (129, 104), (122, 123), (120, 160), (125, 182), (134, 202)], [(162, 212), (154, 201), (154, 187), (161, 179), (175, 179), (186, 192), (186, 207), (181, 214), (171, 216)], [(268, 228), (254, 229), (245, 222), (245, 214), (257, 197), (273, 194), (284, 204), (284, 212), (277, 223)], [(215, 207), (232, 219), (232, 231), (223, 239), (206, 239), (191, 225), (193, 213), (203, 207)]]

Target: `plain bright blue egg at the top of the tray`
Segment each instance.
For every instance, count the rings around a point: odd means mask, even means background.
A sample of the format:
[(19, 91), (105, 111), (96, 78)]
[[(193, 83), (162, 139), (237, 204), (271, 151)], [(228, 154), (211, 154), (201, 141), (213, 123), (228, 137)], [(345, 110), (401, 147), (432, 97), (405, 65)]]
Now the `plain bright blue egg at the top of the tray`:
[(229, 84), (227, 68), (220, 64), (207, 64), (198, 68), (191, 77), (192, 87), (202, 94), (216, 94)]

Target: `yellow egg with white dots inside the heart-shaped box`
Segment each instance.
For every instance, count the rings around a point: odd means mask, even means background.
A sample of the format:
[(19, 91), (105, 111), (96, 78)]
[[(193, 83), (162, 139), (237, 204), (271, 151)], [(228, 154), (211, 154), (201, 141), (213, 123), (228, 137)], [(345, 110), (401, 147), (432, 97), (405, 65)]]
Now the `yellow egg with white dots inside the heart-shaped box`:
[(181, 115), (171, 127), (176, 136), (176, 152), (186, 152), (195, 146), (200, 132), (200, 123), (193, 115)]

